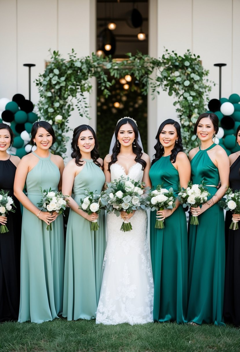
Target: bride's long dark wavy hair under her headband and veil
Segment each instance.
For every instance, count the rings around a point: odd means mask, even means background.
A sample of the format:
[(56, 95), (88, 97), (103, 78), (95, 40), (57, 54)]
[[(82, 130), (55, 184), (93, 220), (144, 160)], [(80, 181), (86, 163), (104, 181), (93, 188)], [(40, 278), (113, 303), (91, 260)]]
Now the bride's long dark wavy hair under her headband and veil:
[(142, 153), (142, 149), (140, 147), (140, 145), (138, 144), (137, 140), (138, 140), (138, 127), (137, 125), (135, 124), (135, 122), (131, 119), (128, 119), (127, 117), (124, 118), (124, 119), (121, 119), (118, 124), (116, 125), (116, 129), (115, 129), (115, 143), (114, 143), (114, 146), (113, 146), (113, 153), (112, 153), (112, 156), (111, 156), (111, 161), (109, 162), (108, 164), (108, 171), (110, 171), (110, 166), (112, 164), (115, 164), (116, 161), (118, 160), (118, 154), (120, 152), (120, 143), (119, 143), (119, 146), (118, 146), (118, 132), (120, 130), (120, 127), (122, 125), (125, 125), (125, 124), (130, 124), (133, 128), (133, 132), (135, 133), (135, 147), (133, 148), (133, 153), (136, 154), (136, 157), (135, 157), (135, 162), (136, 163), (139, 163), (142, 165), (142, 170), (145, 169), (147, 163), (145, 162), (145, 160), (141, 159), (141, 156), (143, 155)]

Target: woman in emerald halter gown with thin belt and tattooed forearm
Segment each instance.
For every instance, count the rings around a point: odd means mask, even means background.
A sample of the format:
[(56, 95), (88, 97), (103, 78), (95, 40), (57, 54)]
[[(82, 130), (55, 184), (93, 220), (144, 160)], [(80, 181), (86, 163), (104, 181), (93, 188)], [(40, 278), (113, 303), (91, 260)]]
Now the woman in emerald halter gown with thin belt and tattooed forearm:
[[(202, 207), (191, 207), (199, 225), (190, 225), (188, 321), (195, 324), (223, 323), (223, 289), (225, 271), (224, 215), (219, 200), (228, 188), (227, 153), (213, 143), (218, 118), (204, 113), (197, 119), (194, 133), (201, 145), (189, 152), (192, 183), (207, 184), (210, 196)], [(217, 185), (221, 181), (221, 187)]]

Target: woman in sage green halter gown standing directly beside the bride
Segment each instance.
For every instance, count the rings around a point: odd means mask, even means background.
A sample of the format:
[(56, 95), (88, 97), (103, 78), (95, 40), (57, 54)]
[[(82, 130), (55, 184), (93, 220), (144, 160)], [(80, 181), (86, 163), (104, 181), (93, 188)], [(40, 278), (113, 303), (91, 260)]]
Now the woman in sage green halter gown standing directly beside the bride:
[[(73, 158), (63, 172), (63, 193), (68, 197), (70, 213), (67, 225), (64, 270), (63, 316), (68, 320), (95, 319), (101, 288), (101, 269), (105, 249), (105, 212), (99, 214), (78, 209), (85, 189), (100, 193), (105, 182), (99, 158), (96, 134), (88, 125), (75, 128)], [(91, 231), (98, 219), (99, 230)]]

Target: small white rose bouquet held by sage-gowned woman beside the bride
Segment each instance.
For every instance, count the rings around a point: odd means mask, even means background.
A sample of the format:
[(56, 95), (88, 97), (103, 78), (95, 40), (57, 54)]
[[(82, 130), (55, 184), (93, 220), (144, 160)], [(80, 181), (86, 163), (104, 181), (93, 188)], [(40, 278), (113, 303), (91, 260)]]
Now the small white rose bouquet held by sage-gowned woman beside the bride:
[[(85, 190), (86, 197), (80, 201), (80, 205), (78, 209), (83, 210), (84, 212), (90, 215), (91, 213), (100, 213), (100, 210), (103, 208), (101, 203), (101, 195), (96, 192), (90, 192), (89, 188)], [(91, 231), (97, 231), (99, 229), (99, 225), (97, 224), (97, 219), (91, 221)]]

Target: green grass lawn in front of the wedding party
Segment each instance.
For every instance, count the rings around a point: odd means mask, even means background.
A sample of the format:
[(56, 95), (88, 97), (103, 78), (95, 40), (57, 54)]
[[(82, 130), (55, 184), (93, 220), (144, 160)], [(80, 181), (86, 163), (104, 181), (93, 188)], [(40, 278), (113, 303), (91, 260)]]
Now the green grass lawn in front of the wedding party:
[(4, 352), (195, 352), (240, 351), (239, 329), (231, 325), (96, 325), (95, 320), (57, 319), (42, 324), (0, 324)]

